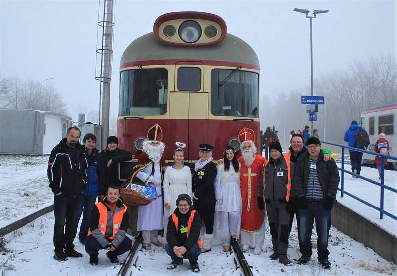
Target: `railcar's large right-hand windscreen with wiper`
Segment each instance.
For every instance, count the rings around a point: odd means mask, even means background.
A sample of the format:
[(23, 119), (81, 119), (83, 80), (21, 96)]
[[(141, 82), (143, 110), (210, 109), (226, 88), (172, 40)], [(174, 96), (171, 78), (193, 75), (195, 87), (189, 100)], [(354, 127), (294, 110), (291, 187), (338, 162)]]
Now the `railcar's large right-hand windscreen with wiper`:
[(240, 70), (211, 71), (211, 113), (259, 118), (258, 74)]

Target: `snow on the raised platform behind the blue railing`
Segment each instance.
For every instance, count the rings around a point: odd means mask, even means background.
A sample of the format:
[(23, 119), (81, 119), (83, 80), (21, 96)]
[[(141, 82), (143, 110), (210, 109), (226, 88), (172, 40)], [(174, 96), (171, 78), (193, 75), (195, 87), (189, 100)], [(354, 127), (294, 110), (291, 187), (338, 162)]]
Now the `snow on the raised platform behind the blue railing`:
[[(338, 163), (338, 166), (341, 167), (341, 164)], [(351, 166), (345, 164), (345, 170), (351, 171)], [(339, 174), (341, 175), (341, 171), (339, 171)], [(361, 167), (360, 174), (364, 177), (380, 182), (380, 180), (378, 179), (378, 170), (376, 168)], [(397, 189), (397, 171), (385, 171), (385, 185)], [(341, 186), (339, 184), (339, 188), (340, 187)], [(353, 178), (352, 175), (345, 173), (344, 190), (377, 207), (380, 207), (380, 186), (367, 182), (363, 179)], [(346, 194), (343, 196), (343, 198), (341, 198), (340, 195), (341, 193), (339, 191), (337, 194), (338, 202), (349, 207), (350, 209), (354, 210), (355, 212), (374, 222), (375, 224), (378, 224), (389, 233), (397, 236), (396, 220), (387, 215), (383, 215), (383, 219), (380, 219), (379, 211), (353, 199)], [(397, 194), (387, 189), (384, 189), (384, 210), (397, 216)]]

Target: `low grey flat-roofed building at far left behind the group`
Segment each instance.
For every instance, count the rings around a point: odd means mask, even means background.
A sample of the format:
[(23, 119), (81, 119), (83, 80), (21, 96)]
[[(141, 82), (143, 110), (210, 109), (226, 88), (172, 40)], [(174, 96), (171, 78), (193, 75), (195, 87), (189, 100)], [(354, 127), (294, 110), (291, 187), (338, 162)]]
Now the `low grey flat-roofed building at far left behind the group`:
[(0, 153), (50, 154), (66, 137), (72, 118), (50, 111), (0, 110)]

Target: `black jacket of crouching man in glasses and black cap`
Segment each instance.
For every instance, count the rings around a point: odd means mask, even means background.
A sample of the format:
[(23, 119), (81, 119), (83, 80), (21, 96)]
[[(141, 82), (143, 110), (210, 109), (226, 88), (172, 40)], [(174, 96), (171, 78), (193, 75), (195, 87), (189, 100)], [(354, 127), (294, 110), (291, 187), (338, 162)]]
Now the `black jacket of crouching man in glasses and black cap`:
[(189, 249), (191, 249), (199, 240), (201, 218), (198, 212), (196, 212), (193, 217), (189, 238), (186, 236), (186, 233), (181, 233), (181, 231), (179, 230), (181, 228), (188, 227), (188, 220), (191, 212), (192, 207), (190, 207), (189, 211), (186, 214), (181, 214), (178, 208), (175, 209), (174, 213), (178, 216), (178, 231), (175, 229), (172, 215), (170, 215), (170, 217), (168, 218), (167, 243), (171, 249), (173, 249), (174, 246), (184, 246), (186, 248), (186, 251), (189, 251)]

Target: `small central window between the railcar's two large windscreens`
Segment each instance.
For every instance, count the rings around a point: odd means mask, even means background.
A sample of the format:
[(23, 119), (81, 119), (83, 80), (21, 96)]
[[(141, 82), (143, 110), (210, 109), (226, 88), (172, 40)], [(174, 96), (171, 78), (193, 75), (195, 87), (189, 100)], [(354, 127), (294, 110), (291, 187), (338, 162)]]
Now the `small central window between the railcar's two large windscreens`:
[(178, 90), (179, 91), (200, 91), (201, 90), (201, 69), (199, 67), (178, 68)]

